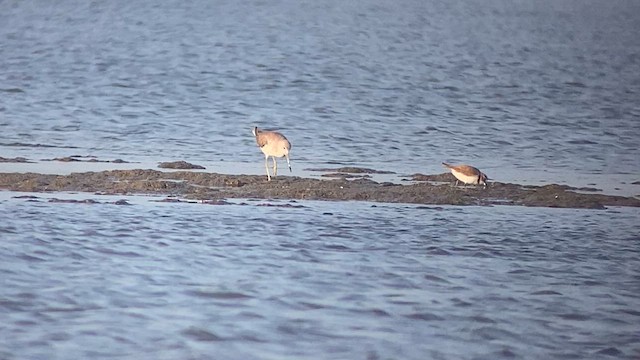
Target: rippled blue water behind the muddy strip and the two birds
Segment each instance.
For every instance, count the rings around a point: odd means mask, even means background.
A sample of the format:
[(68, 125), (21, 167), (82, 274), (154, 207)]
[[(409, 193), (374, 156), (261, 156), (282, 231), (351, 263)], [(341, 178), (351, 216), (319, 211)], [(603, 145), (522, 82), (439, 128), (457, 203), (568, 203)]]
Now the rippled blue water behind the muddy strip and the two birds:
[(294, 169), (637, 176), (638, 13), (631, 0), (4, 1), (0, 155), (260, 170), (257, 125), (285, 132)]

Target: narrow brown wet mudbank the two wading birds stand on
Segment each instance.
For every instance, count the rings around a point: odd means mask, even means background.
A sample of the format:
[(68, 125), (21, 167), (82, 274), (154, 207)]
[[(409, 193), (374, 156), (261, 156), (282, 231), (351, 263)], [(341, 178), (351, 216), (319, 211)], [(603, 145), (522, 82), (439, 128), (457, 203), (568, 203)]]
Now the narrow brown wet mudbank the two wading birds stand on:
[[(376, 182), (372, 169), (318, 169), (323, 179), (279, 176), (268, 182), (264, 175), (229, 175), (210, 172), (151, 169), (105, 170), (53, 175), (0, 173), (0, 189), (22, 192), (88, 192), (105, 195), (153, 194), (191, 200), (221, 201), (231, 198), (332, 200), (409, 203), (424, 205), (519, 205), (604, 209), (607, 206), (640, 207), (640, 199), (593, 193), (566, 185), (519, 185), (491, 182), (459, 186), (449, 173), (415, 174), (405, 183)], [(348, 176), (345, 176), (347, 174)], [(354, 175), (358, 175), (355, 176)], [(323, 176), (323, 175), (320, 175)], [(335, 178), (333, 178), (335, 177)]]

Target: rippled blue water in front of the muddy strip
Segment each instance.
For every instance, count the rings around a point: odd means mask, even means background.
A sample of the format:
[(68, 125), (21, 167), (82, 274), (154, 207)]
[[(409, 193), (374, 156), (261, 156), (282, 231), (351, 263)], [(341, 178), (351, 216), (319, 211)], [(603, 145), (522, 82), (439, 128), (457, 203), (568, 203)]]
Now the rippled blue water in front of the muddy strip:
[(2, 195), (3, 359), (640, 355), (637, 209)]

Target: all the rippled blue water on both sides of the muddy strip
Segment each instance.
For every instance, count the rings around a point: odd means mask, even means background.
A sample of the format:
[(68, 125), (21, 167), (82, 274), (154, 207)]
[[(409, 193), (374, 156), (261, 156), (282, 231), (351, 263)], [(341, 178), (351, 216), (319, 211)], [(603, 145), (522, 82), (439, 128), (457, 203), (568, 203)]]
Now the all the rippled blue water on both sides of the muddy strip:
[[(292, 141), (294, 175), (466, 162), (637, 195), (637, 14), (633, 0), (0, 1), (0, 156), (261, 173), (260, 126)], [(0, 192), (0, 359), (640, 356), (636, 209), (15, 195)]]

